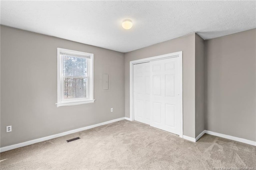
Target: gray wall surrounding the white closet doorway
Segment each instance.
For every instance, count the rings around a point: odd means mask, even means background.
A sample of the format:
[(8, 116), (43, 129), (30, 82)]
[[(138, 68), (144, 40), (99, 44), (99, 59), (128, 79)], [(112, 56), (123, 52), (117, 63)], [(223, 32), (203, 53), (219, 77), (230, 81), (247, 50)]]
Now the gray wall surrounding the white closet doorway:
[(130, 61), (183, 51), (183, 131), (195, 138), (195, 34), (124, 54), (125, 116), (130, 117)]

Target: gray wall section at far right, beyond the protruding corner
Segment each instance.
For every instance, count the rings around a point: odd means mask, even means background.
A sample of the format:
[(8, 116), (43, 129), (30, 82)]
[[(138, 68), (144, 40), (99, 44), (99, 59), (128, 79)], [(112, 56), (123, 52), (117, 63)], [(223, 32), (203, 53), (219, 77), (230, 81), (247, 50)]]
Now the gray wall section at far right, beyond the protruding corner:
[(256, 29), (206, 41), (206, 130), (256, 141)]

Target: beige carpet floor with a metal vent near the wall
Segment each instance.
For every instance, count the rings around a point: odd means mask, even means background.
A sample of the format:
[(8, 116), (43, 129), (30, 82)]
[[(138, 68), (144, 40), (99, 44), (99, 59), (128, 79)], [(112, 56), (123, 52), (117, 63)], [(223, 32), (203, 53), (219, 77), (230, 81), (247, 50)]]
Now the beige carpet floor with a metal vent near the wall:
[[(67, 143), (79, 136), (81, 139)], [(256, 147), (204, 134), (198, 142), (119, 121), (2, 152), (1, 170), (254, 168)]]

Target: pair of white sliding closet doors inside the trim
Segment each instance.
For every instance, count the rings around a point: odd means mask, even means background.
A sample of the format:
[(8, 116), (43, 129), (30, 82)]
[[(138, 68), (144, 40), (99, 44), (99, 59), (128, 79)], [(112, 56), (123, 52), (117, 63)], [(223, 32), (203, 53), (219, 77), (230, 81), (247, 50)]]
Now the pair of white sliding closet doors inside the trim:
[(134, 65), (134, 120), (180, 134), (180, 59)]

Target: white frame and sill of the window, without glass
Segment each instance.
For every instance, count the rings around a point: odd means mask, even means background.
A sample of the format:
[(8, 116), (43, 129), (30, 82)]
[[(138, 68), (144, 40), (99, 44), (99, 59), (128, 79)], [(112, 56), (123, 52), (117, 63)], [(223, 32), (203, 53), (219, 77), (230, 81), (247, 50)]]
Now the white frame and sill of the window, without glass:
[[(84, 56), (85, 58), (87, 58), (86, 56), (90, 56), (90, 59), (87, 59), (87, 95), (86, 98), (78, 98), (78, 99), (64, 99), (64, 79), (63, 79), (63, 61), (62, 61), (62, 57), (60, 55), (60, 52), (63, 53), (73, 53), (74, 55), (80, 55), (81, 57)], [(57, 87), (57, 107), (60, 106), (71, 106), (71, 105), (81, 105), (81, 104), (85, 104), (85, 103), (93, 103), (94, 100), (94, 84), (93, 84), (93, 54), (92, 53), (86, 53), (86, 52), (81, 52), (81, 51), (74, 51), (71, 49), (64, 49), (64, 48), (57, 48), (57, 62), (58, 62), (58, 87)]]

